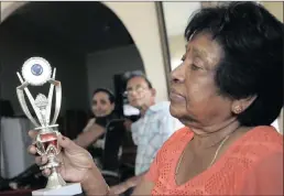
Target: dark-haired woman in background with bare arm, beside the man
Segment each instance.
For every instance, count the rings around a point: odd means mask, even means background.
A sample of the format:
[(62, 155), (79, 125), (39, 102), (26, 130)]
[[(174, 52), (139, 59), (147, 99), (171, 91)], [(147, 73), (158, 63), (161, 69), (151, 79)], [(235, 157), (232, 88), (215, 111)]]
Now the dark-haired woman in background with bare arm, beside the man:
[(94, 151), (96, 156), (101, 155), (107, 124), (111, 120), (118, 119), (114, 112), (114, 95), (110, 90), (105, 88), (96, 89), (91, 100), (94, 118), (88, 121), (83, 132), (75, 140), (75, 143), (85, 149), (92, 144), (97, 149)]

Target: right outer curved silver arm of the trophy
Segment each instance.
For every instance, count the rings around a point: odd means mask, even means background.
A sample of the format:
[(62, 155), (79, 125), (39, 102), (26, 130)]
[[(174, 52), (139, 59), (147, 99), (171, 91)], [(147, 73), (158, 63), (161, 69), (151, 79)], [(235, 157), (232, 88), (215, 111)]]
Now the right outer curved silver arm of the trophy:
[(54, 117), (51, 124), (54, 124), (58, 118), (62, 105), (62, 84), (55, 79), (48, 79), (48, 83), (55, 86), (55, 111)]

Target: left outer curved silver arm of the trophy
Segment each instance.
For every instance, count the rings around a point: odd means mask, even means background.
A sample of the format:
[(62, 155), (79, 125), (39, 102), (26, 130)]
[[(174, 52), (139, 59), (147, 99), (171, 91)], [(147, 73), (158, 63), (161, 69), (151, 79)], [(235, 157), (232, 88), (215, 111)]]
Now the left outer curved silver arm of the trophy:
[[(28, 85), (29, 85), (28, 83), (24, 83), (23, 85), (17, 87), (18, 99), (19, 99), (20, 105), (21, 105), (21, 107), (22, 107), (22, 110), (23, 110), (23, 112), (26, 115), (26, 117), (33, 122), (33, 124), (34, 124), (35, 127), (40, 127), (40, 124), (35, 121), (35, 119), (34, 119), (33, 116), (31, 115), (31, 112), (30, 112), (30, 110), (29, 110), (29, 108), (28, 108), (28, 106), (26, 106), (25, 99), (24, 99), (23, 89), (24, 89)], [(29, 95), (30, 95), (30, 96), (29, 96)], [(29, 96), (30, 100), (32, 101), (32, 100), (33, 100), (33, 97), (31, 96), (31, 94), (28, 94), (28, 96)], [(34, 101), (34, 100), (33, 100), (33, 101)], [(31, 104), (32, 104), (33, 108), (35, 108), (34, 105), (33, 105), (33, 102), (31, 102)], [(36, 112), (36, 110), (35, 110), (35, 112)], [(36, 116), (37, 116), (37, 113), (36, 113)]]

